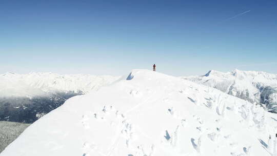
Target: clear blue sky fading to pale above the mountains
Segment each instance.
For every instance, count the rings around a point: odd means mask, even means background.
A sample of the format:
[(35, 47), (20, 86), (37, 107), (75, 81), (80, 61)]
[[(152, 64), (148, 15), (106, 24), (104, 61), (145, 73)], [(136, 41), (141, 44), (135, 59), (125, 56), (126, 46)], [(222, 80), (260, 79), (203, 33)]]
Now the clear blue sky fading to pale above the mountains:
[(0, 73), (277, 73), (277, 1), (0, 1)]

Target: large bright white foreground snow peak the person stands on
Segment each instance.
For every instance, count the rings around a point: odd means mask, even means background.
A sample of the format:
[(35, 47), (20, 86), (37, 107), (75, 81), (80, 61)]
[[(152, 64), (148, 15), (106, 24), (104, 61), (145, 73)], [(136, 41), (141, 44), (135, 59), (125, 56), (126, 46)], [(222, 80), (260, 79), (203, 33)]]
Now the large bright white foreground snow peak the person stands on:
[(126, 77), (67, 100), (0, 155), (260, 156), (273, 151), (268, 138), (276, 131), (277, 114), (158, 72), (133, 70)]

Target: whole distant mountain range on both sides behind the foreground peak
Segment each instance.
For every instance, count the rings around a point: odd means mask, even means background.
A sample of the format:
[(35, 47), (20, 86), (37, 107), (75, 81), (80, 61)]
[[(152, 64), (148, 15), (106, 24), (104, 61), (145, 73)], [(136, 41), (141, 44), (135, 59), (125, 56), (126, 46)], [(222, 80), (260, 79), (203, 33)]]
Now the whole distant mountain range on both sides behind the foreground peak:
[[(0, 75), (0, 121), (33, 123), (67, 99), (97, 91), (121, 76), (88, 74), (7, 72)], [(277, 74), (262, 71), (220, 72), (210, 70), (201, 76), (182, 79), (219, 89), (269, 112), (277, 112)]]

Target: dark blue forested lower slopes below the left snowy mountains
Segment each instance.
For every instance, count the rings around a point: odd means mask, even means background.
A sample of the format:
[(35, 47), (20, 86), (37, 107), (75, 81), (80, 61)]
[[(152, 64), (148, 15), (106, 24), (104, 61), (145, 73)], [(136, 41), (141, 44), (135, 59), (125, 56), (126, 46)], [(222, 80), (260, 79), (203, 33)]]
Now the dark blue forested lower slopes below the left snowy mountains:
[(67, 99), (83, 92), (56, 92), (47, 96), (0, 97), (0, 121), (33, 123)]

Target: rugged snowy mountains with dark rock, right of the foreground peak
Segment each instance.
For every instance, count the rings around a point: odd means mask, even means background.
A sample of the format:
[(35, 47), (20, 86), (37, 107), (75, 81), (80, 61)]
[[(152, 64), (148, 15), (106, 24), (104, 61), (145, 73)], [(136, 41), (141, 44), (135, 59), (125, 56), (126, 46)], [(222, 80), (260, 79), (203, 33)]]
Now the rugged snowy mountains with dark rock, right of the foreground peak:
[(277, 112), (277, 74), (262, 71), (219, 72), (210, 70), (202, 76), (182, 79), (219, 89), (253, 104), (262, 104), (268, 111)]

